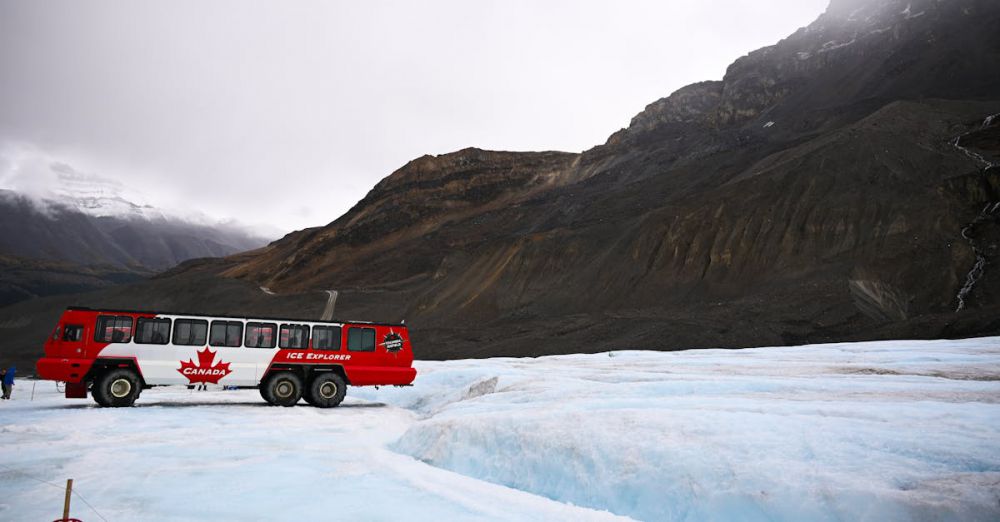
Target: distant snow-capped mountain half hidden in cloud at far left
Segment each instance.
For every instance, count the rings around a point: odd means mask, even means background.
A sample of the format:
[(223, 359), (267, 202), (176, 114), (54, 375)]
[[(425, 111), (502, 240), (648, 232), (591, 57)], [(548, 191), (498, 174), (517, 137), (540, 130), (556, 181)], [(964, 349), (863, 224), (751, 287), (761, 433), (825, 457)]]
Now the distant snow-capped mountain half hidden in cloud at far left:
[(0, 154), (0, 306), (134, 281), (198, 257), (273, 238), (185, 209), (71, 165)]

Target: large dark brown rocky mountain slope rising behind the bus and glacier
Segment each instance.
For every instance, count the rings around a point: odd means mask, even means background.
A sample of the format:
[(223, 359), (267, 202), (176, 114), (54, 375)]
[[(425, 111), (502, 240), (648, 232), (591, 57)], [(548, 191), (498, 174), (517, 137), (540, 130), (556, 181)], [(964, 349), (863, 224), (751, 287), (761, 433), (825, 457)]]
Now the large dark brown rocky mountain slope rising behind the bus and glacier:
[[(996, 333), (996, 27), (992, 1), (833, 0), (582, 154), (418, 158), (325, 227), (168, 279), (338, 289), (425, 357)], [(267, 299), (211, 306), (318, 301)]]

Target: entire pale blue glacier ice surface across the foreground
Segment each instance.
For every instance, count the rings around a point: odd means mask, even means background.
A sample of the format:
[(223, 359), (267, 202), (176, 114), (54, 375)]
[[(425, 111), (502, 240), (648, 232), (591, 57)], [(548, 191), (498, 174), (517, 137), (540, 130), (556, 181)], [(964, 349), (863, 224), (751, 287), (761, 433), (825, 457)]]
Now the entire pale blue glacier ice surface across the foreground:
[(1000, 338), (417, 364), (332, 410), (21, 382), (0, 520), (70, 477), (108, 520), (1000, 519)]

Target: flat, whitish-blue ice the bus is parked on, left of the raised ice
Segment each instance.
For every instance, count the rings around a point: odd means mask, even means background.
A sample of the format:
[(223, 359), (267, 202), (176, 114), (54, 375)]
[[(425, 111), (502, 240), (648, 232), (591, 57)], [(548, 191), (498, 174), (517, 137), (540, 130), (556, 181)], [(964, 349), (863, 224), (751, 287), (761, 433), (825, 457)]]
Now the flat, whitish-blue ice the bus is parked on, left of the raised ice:
[[(348, 398), (320, 410), (255, 391), (143, 392), (98, 409), (22, 381), (0, 408), (0, 520), (54, 520), (74, 489), (113, 520), (610, 520), (613, 515), (421, 463), (387, 449), (413, 414)], [(74, 499), (74, 516), (100, 518)]]

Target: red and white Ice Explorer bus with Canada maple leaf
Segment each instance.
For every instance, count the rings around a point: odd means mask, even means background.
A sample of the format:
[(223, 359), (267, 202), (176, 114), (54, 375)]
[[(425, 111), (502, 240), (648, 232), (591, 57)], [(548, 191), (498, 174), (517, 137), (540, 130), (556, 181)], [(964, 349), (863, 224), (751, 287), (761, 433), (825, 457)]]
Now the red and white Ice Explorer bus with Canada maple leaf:
[(258, 388), (268, 403), (299, 399), (330, 408), (347, 386), (413, 382), (403, 324), (302, 321), (70, 307), (45, 342), (42, 379), (67, 398), (131, 406), (142, 390), (171, 384)]

